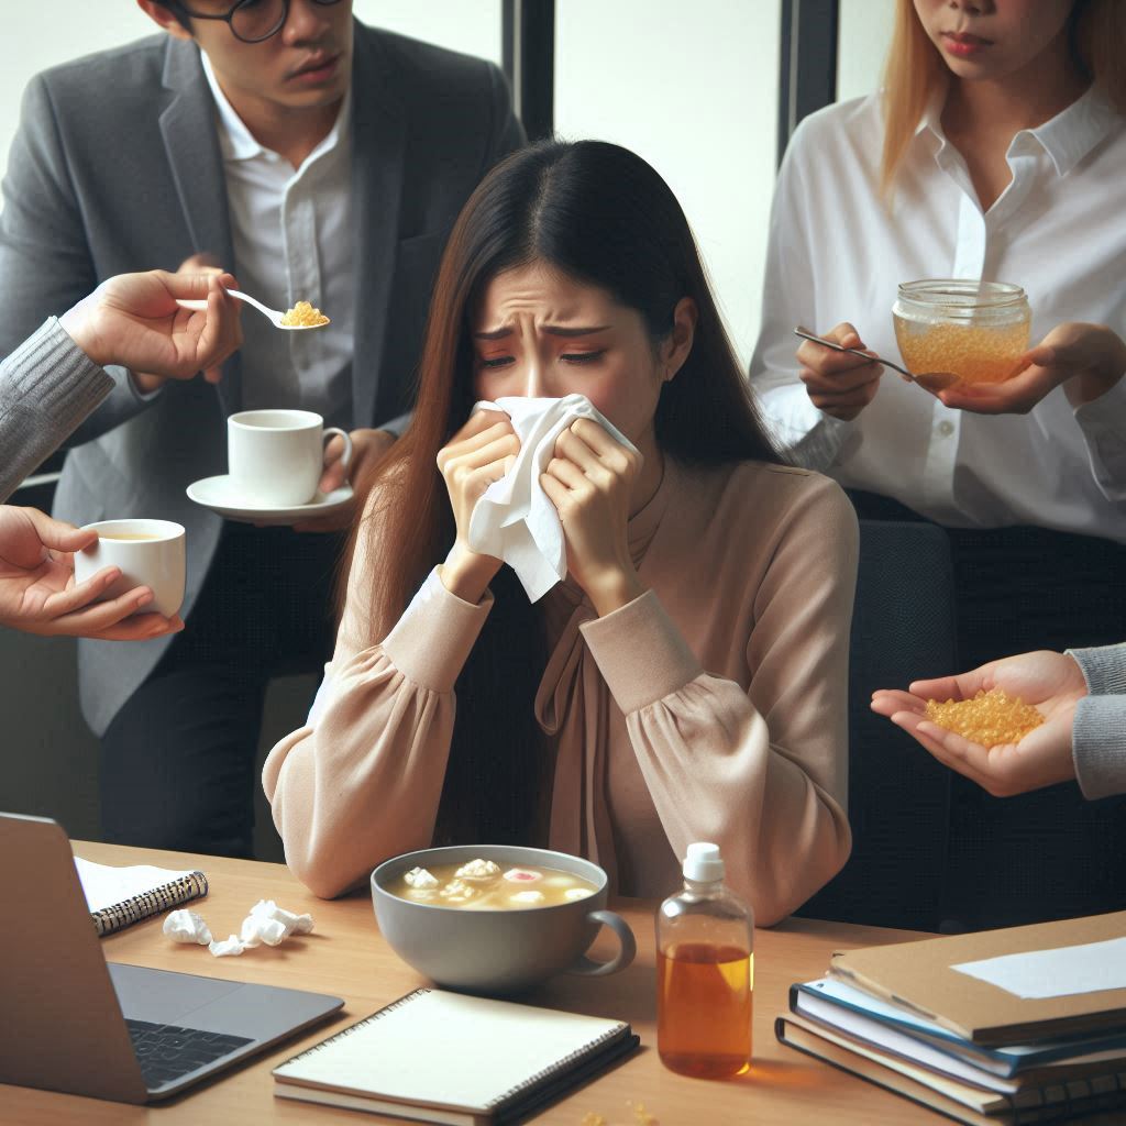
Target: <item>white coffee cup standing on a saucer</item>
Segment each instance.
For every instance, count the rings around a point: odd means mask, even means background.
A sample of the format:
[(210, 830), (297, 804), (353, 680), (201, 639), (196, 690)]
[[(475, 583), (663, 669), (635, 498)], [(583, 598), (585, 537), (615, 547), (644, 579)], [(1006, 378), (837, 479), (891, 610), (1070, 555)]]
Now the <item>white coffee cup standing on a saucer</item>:
[(226, 457), (231, 483), (241, 502), (261, 508), (307, 504), (324, 471), (324, 439), (345, 440), (343, 464), (351, 461), (351, 439), (338, 427), (324, 427), (313, 411), (240, 411), (226, 420)]

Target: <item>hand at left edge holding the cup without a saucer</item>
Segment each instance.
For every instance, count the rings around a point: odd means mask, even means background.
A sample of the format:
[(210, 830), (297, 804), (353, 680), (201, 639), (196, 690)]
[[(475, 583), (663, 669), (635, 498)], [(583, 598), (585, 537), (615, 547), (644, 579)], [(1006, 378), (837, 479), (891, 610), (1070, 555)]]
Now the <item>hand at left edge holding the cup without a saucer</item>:
[(73, 553), (97, 538), (97, 531), (82, 531), (37, 509), (0, 506), (0, 626), (98, 641), (149, 641), (182, 629), (179, 617), (131, 617), (152, 601), (148, 587), (93, 605), (122, 573), (102, 568), (74, 583)]

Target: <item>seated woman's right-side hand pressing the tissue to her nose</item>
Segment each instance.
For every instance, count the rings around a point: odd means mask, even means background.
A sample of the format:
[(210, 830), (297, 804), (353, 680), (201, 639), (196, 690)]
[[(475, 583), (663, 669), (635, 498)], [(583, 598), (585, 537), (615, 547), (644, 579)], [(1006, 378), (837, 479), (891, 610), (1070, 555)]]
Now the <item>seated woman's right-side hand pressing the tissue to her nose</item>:
[(627, 537), (642, 461), (597, 422), (579, 419), (558, 436), (555, 456), (539, 477), (563, 524), (568, 570), (599, 617), (644, 591)]

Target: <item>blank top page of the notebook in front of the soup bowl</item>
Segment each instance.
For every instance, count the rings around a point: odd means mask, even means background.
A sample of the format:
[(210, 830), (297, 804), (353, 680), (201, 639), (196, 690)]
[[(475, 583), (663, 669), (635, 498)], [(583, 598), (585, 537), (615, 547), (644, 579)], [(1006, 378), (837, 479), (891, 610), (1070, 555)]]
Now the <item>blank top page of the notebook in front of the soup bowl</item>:
[(405, 1102), (483, 1109), (624, 1027), (599, 1017), (419, 991), (274, 1074)]

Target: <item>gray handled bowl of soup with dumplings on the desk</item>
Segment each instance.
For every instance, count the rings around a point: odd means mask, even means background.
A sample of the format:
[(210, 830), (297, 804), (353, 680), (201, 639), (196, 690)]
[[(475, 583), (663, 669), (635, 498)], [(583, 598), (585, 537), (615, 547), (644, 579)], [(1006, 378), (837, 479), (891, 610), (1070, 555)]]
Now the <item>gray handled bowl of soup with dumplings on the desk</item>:
[[(606, 873), (581, 857), (508, 844), (457, 844), (406, 852), (372, 873), (372, 902), (391, 948), (438, 985), (517, 993), (558, 973), (624, 969), (636, 945), (606, 909)], [(600, 927), (618, 949), (587, 950)]]

